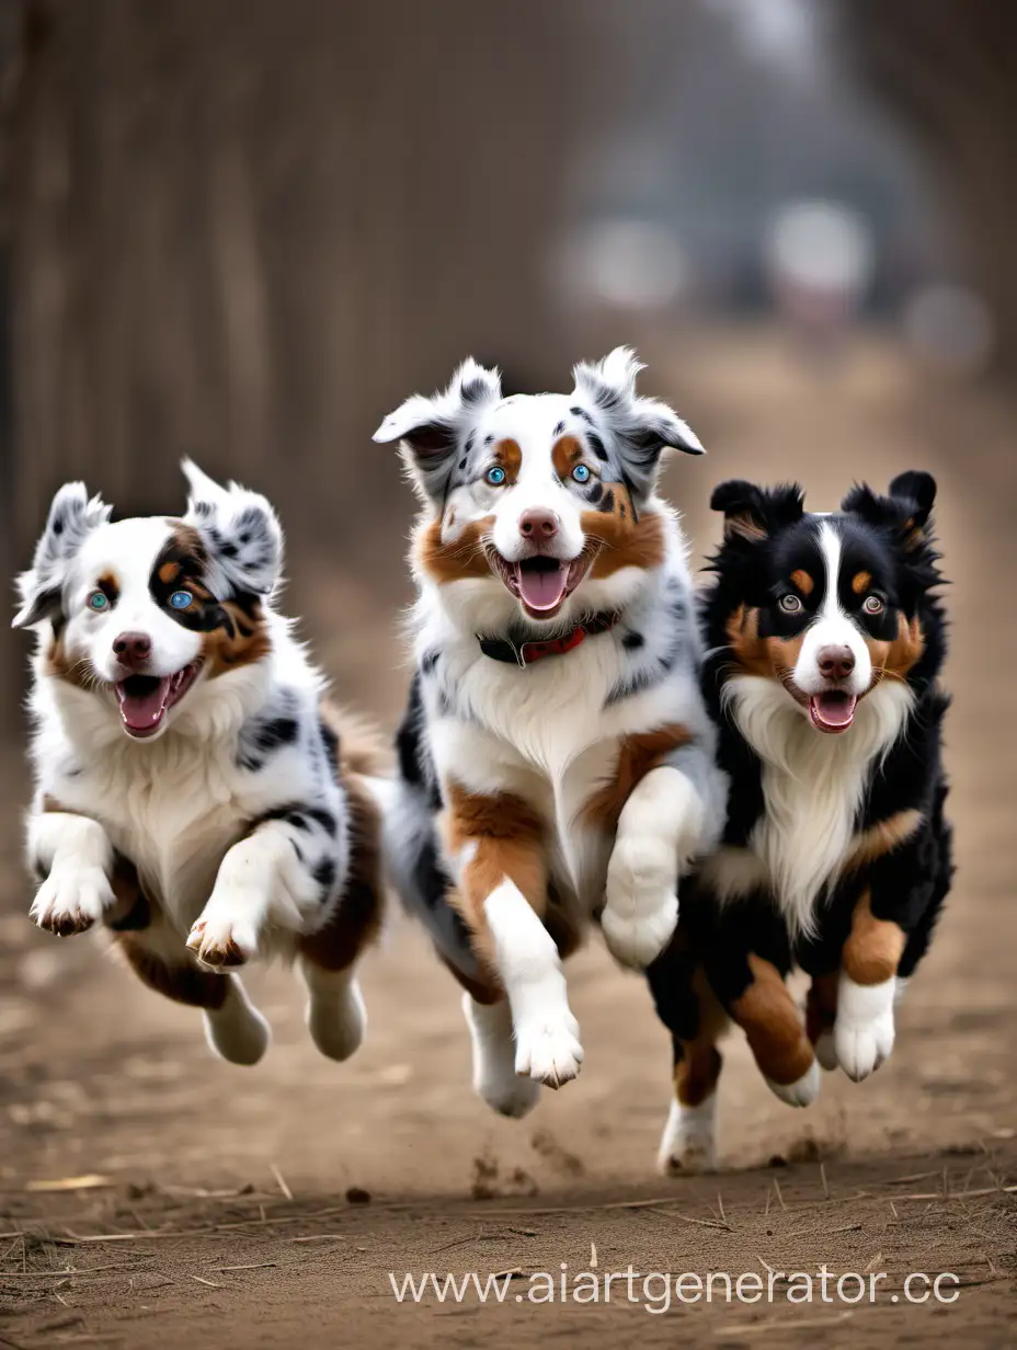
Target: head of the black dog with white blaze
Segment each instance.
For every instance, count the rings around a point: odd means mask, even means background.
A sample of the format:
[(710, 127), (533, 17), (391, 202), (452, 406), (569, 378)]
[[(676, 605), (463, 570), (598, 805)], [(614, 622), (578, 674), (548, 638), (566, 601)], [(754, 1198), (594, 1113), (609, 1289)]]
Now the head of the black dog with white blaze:
[(708, 640), (733, 657), (727, 674), (779, 680), (829, 733), (881, 680), (909, 680), (927, 652), (921, 602), (940, 579), (935, 495), (929, 474), (908, 473), (886, 497), (859, 486), (839, 513), (813, 516), (797, 486), (721, 483)]

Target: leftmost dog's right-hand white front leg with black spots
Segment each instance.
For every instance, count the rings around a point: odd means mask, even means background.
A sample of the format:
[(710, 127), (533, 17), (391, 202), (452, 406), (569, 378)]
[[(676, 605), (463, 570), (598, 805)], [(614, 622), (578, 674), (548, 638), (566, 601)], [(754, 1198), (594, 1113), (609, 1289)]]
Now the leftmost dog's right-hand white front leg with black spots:
[(215, 887), (188, 946), (212, 971), (243, 965), (269, 926), (311, 933), (342, 888), (344, 840), (331, 813), (288, 810), (257, 824), (219, 864)]

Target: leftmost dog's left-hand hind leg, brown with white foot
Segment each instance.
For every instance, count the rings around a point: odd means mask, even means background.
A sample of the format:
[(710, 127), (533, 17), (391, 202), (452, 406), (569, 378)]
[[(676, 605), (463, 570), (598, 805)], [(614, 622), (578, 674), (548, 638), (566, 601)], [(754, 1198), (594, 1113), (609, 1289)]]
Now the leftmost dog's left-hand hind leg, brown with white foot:
[[(150, 990), (203, 1010), (209, 1048), (230, 1064), (257, 1064), (271, 1040), (269, 1023), (249, 1000), (235, 975), (212, 975), (186, 956), (161, 950), (161, 937), (170, 938), (158, 919), (145, 933), (118, 933), (127, 964)], [(178, 938), (176, 940), (178, 941)]]

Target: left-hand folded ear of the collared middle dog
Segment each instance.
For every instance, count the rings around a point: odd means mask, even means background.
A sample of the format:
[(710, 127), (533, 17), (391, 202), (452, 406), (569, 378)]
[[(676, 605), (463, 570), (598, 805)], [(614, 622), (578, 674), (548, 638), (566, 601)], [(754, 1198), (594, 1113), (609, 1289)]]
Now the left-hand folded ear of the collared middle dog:
[(409, 477), (424, 501), (442, 502), (459, 444), (485, 408), (501, 398), (501, 375), (470, 356), (452, 375), (447, 389), (413, 394), (385, 418), (374, 440), (400, 441)]

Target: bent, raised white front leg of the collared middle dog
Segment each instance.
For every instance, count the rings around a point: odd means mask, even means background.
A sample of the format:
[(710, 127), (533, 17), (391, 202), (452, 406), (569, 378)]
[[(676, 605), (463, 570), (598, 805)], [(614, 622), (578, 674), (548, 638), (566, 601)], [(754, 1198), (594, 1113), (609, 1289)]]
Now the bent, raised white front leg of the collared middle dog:
[(623, 965), (646, 969), (678, 922), (678, 876), (701, 846), (702, 798), (670, 764), (632, 788), (619, 817), (601, 915), (604, 940)]

